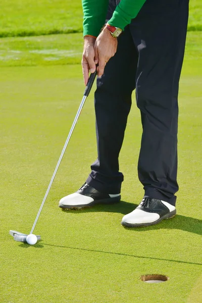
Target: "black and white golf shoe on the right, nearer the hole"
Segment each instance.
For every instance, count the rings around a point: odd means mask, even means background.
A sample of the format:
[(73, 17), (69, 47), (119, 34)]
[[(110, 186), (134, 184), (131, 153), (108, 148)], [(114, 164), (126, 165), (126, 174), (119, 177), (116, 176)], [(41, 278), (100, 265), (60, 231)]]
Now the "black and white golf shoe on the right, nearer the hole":
[(123, 217), (121, 224), (126, 227), (149, 226), (175, 215), (176, 208), (168, 202), (144, 197), (133, 212)]

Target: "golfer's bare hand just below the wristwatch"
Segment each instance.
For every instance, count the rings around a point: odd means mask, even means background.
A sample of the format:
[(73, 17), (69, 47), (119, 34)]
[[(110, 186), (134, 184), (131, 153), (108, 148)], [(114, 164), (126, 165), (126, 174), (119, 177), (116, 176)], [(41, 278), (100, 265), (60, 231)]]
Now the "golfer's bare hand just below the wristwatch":
[(97, 75), (101, 77), (104, 73), (107, 62), (117, 51), (117, 38), (114, 38), (107, 28), (98, 35), (95, 44), (95, 64), (98, 63)]

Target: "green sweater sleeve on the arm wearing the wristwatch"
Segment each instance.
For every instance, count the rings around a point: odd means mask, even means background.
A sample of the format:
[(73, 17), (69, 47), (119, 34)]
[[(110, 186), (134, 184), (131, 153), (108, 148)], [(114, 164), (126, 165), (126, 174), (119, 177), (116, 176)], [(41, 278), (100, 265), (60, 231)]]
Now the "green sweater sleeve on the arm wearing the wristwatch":
[(146, 0), (121, 0), (108, 23), (112, 26), (124, 27), (137, 16)]

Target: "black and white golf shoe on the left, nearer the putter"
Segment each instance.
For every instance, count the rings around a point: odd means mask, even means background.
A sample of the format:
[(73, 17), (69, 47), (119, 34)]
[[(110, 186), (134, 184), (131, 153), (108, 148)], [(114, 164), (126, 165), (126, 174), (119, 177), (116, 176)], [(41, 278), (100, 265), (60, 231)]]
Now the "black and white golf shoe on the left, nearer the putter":
[(60, 200), (59, 207), (62, 209), (81, 209), (95, 204), (114, 204), (121, 200), (120, 193), (102, 193), (84, 183), (77, 192), (69, 194)]

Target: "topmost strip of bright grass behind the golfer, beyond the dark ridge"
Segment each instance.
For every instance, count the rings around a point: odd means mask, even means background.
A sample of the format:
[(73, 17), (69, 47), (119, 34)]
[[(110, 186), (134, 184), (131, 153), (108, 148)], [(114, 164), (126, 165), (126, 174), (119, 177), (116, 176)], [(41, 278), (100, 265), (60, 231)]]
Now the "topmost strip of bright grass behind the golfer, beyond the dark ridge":
[[(190, 1), (188, 30), (202, 30), (202, 2)], [(4, 0), (0, 37), (82, 32), (81, 0)]]

